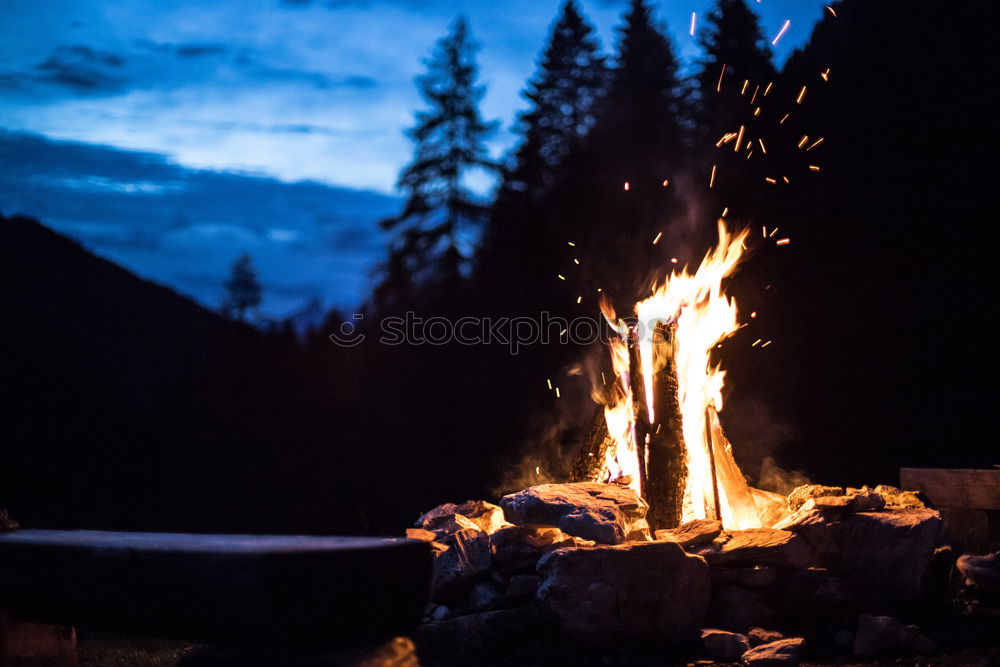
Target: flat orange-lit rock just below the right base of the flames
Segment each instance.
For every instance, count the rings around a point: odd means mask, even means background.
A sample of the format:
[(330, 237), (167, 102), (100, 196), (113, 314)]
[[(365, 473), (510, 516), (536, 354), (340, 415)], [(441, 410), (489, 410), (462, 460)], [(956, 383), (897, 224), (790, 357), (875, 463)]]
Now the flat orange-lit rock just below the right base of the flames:
[(814, 558), (812, 548), (803, 538), (791, 531), (774, 528), (751, 528), (726, 533), (713, 542), (711, 547), (698, 553), (713, 566), (772, 565), (802, 568), (808, 567)]

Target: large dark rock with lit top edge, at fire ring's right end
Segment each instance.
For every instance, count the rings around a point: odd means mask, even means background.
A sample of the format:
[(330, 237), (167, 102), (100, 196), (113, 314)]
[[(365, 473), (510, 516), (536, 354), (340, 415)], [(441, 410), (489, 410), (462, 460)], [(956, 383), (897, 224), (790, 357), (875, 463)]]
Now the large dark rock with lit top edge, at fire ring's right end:
[(829, 568), (847, 578), (862, 610), (898, 608), (920, 597), (940, 530), (935, 510), (851, 514), (830, 525), (839, 553)]

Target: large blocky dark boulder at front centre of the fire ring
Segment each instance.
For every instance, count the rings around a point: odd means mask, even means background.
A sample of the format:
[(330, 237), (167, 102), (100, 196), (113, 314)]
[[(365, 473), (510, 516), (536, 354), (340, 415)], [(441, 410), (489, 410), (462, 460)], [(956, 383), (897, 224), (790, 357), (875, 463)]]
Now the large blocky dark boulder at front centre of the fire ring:
[(708, 565), (670, 542), (558, 549), (538, 573), (544, 608), (584, 641), (693, 639), (708, 609)]

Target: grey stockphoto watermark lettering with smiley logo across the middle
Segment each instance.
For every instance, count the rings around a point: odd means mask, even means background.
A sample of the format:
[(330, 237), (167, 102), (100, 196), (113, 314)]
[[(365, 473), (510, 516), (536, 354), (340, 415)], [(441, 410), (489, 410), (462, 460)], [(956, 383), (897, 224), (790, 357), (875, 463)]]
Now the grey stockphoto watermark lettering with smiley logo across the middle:
[[(625, 323), (639, 338), (655, 331), (656, 322), (642, 323), (634, 318)], [(600, 316), (565, 317), (541, 312), (536, 317), (423, 317), (413, 312), (384, 317), (374, 323), (355, 314), (339, 330), (329, 334), (340, 347), (355, 347), (366, 341), (380, 345), (503, 345), (517, 354), (528, 345), (606, 343), (618, 334)]]

